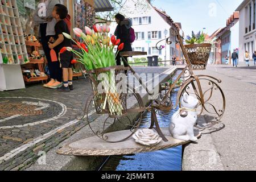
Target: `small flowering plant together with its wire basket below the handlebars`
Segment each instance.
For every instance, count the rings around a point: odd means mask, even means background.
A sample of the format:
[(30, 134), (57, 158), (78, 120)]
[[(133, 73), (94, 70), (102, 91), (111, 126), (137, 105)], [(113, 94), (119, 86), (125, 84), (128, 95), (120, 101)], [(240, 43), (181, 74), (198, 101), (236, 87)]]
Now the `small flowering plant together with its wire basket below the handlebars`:
[(212, 44), (205, 40), (204, 33), (199, 31), (195, 34), (192, 31), (192, 35), (188, 35), (185, 42), (187, 45), (184, 47), (192, 64), (192, 69), (206, 69)]

